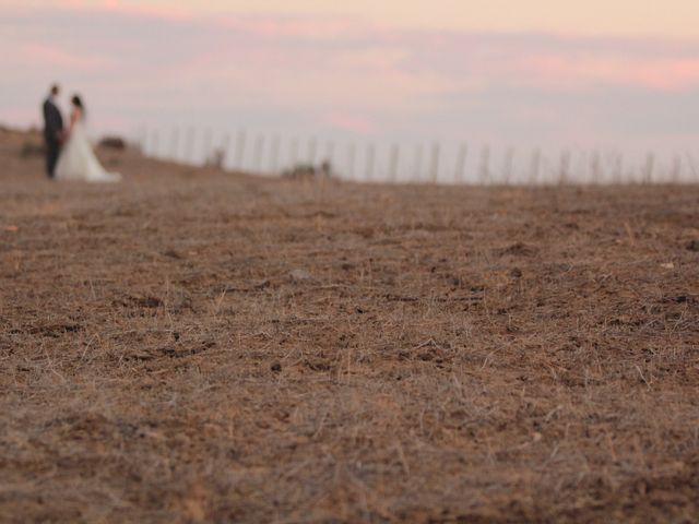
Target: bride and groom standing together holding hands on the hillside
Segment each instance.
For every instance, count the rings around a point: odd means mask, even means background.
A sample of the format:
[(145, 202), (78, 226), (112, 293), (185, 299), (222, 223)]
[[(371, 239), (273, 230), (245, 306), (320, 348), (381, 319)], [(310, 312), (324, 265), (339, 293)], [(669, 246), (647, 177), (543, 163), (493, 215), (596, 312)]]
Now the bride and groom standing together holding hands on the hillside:
[(56, 180), (85, 180), (87, 182), (117, 182), (118, 172), (108, 172), (95, 156), (87, 140), (83, 121), (85, 107), (80, 96), (73, 96), (70, 123), (63, 127), (63, 117), (57, 106), (58, 85), (51, 87), (44, 102), (44, 139), (46, 141), (46, 172)]

